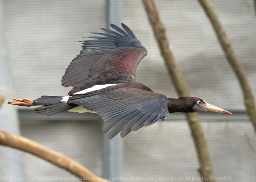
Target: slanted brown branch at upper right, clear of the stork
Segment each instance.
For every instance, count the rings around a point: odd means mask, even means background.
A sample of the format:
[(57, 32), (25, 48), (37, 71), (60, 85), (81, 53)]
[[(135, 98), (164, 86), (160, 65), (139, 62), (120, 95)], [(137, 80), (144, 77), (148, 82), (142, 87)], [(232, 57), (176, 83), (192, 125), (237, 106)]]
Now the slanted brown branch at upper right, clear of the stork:
[(230, 41), (228, 40), (228, 37), (220, 23), (220, 20), (218, 19), (218, 15), (216, 14), (213, 6), (211, 5), (211, 2), (209, 0), (198, 0), (198, 1), (204, 8), (209, 20), (211, 21), (213, 29), (218, 37), (218, 40), (227, 57), (227, 60), (232, 66), (235, 72), (235, 75), (239, 80), (240, 86), (244, 94), (244, 104), (246, 105), (247, 114), (249, 115), (251, 122), (254, 126), (254, 130), (256, 132), (256, 107), (255, 107), (253, 92), (251, 90), (249, 81), (246, 77), (246, 73), (242, 65), (240, 64), (240, 61), (237, 58), (230, 44)]

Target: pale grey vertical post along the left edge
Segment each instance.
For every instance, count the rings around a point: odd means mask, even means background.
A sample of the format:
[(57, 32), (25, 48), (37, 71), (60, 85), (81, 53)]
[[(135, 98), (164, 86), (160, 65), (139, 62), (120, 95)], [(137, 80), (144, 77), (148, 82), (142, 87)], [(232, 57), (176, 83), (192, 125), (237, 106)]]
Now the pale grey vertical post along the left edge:
[[(0, 94), (12, 97), (12, 83), (7, 59), (6, 41), (3, 28), (2, 1), (0, 0)], [(19, 123), (15, 107), (3, 103), (0, 109), (0, 129), (19, 134)], [(0, 181), (12, 181), (14, 177), (24, 177), (22, 153), (12, 148), (0, 146)]]

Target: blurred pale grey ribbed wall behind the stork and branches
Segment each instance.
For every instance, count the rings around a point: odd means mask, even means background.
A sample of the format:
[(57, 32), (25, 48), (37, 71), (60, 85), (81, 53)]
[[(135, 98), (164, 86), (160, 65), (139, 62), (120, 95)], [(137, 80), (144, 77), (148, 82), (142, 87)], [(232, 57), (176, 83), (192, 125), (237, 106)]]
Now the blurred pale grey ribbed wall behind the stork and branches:
[[(61, 86), (61, 77), (67, 65), (79, 54), (81, 43), (78, 41), (86, 39), (81, 37), (91, 36), (90, 32), (102, 32), (101, 27), (108, 27), (109, 14), (116, 12), (148, 50), (148, 55), (138, 65), (137, 81), (155, 92), (178, 97), (142, 3), (123, 0), (109, 11), (110, 2), (2, 0), (14, 97), (36, 99), (41, 95), (66, 95), (71, 88)], [(253, 0), (211, 2), (256, 95)], [(256, 155), (242, 134), (247, 133), (256, 146), (255, 134), (245, 114), (239, 83), (209, 20), (196, 0), (157, 0), (155, 3), (191, 95), (233, 112), (232, 116), (201, 114), (216, 176), (230, 176), (233, 182), (254, 182)], [(23, 136), (74, 158), (98, 175), (103, 175), (104, 165), (114, 168), (119, 162), (114, 159), (107, 164), (103, 162), (106, 149), (99, 116), (63, 113), (43, 117), (33, 113), (31, 108), (18, 109)], [(141, 175), (187, 176), (191, 179), (200, 176), (194, 144), (183, 114), (170, 114), (166, 121), (132, 132), (122, 140), (123, 144), (115, 150), (123, 157), (120, 176), (128, 179)], [(26, 176), (30, 177), (28, 181), (35, 180), (33, 176), (71, 176), (29, 154), (24, 154), (23, 160)]]

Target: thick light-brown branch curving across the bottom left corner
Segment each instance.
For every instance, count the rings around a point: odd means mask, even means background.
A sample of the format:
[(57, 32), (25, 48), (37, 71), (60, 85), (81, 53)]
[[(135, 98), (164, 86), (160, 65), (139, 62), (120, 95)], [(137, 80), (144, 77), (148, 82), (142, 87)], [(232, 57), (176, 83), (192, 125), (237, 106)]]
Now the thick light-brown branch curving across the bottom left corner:
[(45, 146), (23, 136), (0, 131), (0, 145), (10, 146), (38, 156), (48, 162), (61, 167), (87, 182), (109, 182), (93, 174), (80, 163), (68, 158), (62, 153), (50, 150)]

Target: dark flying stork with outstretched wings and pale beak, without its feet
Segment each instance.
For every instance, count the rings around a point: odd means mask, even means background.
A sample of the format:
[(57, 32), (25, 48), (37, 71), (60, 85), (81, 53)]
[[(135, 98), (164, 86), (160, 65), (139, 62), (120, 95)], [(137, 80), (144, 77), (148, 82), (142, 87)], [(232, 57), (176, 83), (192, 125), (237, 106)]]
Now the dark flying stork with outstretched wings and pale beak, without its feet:
[[(73, 89), (65, 97), (42, 96), (33, 101), (43, 105), (35, 112), (50, 116), (63, 111), (78, 111), (80, 106), (99, 113), (104, 121), (103, 132), (111, 139), (121, 132), (149, 126), (171, 112), (211, 111), (231, 114), (196, 97), (167, 98), (136, 82), (135, 71), (147, 54), (135, 34), (125, 24), (123, 29), (94, 33), (92, 40), (83, 41), (83, 50), (74, 58), (62, 77), (64, 87)], [(214, 110), (215, 109), (215, 110)]]

